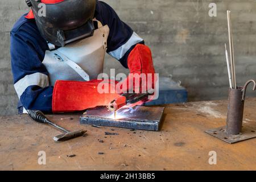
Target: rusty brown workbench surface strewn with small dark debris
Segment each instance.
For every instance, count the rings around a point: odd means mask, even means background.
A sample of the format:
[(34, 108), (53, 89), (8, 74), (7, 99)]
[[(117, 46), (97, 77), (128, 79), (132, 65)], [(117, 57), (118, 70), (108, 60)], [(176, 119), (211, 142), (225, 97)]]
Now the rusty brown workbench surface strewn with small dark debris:
[[(157, 132), (84, 126), (79, 124), (81, 113), (47, 115), (68, 130), (88, 130), (86, 137), (63, 143), (53, 142), (58, 130), (35, 123), (28, 115), (0, 117), (0, 169), (256, 170), (256, 138), (228, 144), (204, 133), (225, 125), (226, 101), (165, 107), (163, 126)], [(255, 129), (256, 98), (245, 103), (243, 125), (249, 124)], [(105, 131), (119, 135), (105, 135)], [(39, 151), (46, 152), (46, 165), (38, 164)], [(216, 165), (208, 162), (210, 151), (217, 152)]]

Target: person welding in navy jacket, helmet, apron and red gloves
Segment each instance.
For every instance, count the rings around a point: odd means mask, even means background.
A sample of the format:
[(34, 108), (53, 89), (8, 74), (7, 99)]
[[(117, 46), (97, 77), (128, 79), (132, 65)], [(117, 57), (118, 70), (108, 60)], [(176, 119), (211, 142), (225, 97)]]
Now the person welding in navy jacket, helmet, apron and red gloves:
[[(105, 2), (26, 3), (31, 10), (11, 30), (11, 67), (19, 113), (108, 105), (120, 95), (98, 93), (102, 80), (97, 76), (103, 72), (105, 52), (130, 73), (155, 73), (150, 48)], [(116, 82), (109, 80), (108, 84), (115, 86)]]

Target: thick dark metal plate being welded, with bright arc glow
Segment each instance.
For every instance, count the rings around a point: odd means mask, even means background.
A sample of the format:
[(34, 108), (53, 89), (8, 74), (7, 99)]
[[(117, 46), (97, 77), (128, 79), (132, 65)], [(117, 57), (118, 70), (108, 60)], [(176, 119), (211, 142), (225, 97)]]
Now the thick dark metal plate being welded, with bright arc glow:
[(114, 112), (107, 107), (89, 109), (80, 117), (81, 124), (125, 127), (129, 129), (158, 131), (163, 117), (164, 107), (135, 106)]

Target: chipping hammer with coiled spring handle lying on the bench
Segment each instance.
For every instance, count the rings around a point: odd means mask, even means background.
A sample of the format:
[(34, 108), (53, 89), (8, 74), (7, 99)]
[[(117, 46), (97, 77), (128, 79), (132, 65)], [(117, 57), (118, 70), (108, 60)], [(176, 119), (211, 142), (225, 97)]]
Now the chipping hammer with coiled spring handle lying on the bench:
[(59, 129), (64, 132), (64, 134), (60, 134), (60, 135), (57, 135), (56, 137), (53, 137), (53, 140), (55, 140), (55, 142), (63, 142), (72, 138), (81, 137), (87, 132), (85, 130), (68, 131), (63, 127), (60, 127), (55, 123), (52, 123), (51, 121), (49, 121), (46, 118), (46, 116), (42, 113), (42, 111), (39, 111), (39, 110), (27, 110), (27, 113), (28, 115), (30, 115), (32, 119), (34, 119), (34, 121), (39, 123), (47, 123), (49, 125), (56, 127), (56, 129)]

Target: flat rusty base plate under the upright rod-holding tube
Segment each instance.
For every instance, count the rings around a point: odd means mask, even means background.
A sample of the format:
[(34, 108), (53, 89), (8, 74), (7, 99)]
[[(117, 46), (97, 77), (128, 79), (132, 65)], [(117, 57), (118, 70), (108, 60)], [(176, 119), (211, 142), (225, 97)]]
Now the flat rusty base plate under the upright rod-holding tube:
[(256, 137), (256, 131), (245, 126), (242, 127), (242, 133), (239, 135), (229, 135), (228, 133), (226, 133), (226, 126), (218, 127), (217, 129), (207, 130), (205, 131), (205, 133), (208, 133), (209, 135), (221, 139), (229, 144), (242, 142), (244, 140)]

